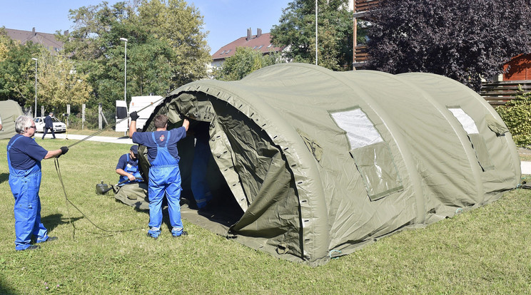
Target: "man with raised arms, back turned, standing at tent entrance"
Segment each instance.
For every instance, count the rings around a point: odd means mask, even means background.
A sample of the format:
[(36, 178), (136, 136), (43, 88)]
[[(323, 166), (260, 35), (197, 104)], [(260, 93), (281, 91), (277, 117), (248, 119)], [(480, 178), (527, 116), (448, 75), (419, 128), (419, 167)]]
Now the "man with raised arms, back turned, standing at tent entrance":
[(130, 114), (131, 125), (129, 137), (133, 143), (145, 145), (148, 149), (149, 168), (149, 230), (148, 237), (154, 239), (161, 234), (162, 225), (162, 200), (166, 193), (168, 199), (168, 214), (170, 215), (171, 234), (181, 237), (187, 232), (183, 230), (181, 220), (181, 172), (179, 171), (179, 156), (177, 142), (186, 137), (190, 122), (184, 119), (179, 128), (168, 128), (168, 117), (156, 115), (153, 123), (156, 130), (153, 132), (136, 132), (136, 112)]

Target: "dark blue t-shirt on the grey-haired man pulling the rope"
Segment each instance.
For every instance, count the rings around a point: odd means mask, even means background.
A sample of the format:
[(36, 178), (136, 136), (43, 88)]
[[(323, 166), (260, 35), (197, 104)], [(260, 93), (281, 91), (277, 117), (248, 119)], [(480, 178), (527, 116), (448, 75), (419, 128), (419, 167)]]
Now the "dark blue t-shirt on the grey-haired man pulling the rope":
[(14, 167), (17, 170), (28, 170), (46, 157), (48, 151), (44, 150), (43, 147), (37, 144), (34, 138), (28, 138), (24, 135), (15, 135), (9, 140), (7, 146), (9, 147), (16, 138), (19, 139), (16, 140), (9, 150), (11, 167)]

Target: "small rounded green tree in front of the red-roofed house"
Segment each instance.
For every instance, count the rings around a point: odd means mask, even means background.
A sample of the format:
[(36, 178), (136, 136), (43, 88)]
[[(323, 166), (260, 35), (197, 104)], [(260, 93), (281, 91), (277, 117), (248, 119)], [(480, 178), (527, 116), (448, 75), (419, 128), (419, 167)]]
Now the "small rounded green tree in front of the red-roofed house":
[(253, 71), (280, 63), (280, 53), (268, 53), (263, 55), (260, 51), (249, 47), (238, 47), (236, 53), (218, 68), (214, 73), (214, 78), (222, 81), (236, 81), (247, 76)]

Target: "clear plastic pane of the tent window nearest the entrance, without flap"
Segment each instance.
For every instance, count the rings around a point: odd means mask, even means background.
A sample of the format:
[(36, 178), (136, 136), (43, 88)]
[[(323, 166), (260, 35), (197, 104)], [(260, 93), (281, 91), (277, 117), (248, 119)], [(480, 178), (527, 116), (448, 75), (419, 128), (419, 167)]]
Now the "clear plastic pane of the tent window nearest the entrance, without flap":
[(347, 133), (352, 150), (383, 142), (378, 130), (360, 108), (332, 113), (331, 115), (339, 128)]

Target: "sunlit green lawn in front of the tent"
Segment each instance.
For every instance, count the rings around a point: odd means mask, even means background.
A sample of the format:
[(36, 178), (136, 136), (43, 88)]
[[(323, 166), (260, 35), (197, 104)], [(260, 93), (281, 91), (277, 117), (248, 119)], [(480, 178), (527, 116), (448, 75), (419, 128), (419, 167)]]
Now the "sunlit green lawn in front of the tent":
[[(38, 141), (47, 149), (66, 140)], [(127, 148), (127, 147), (126, 147)], [(84, 142), (59, 162), (44, 160), (41, 215), (56, 242), (14, 250), (14, 200), (0, 141), (0, 294), (528, 294), (531, 293), (531, 191), (425, 229), (400, 232), (354, 254), (312, 268), (276, 259), (184, 221), (172, 239), (148, 239), (148, 214), (95, 194), (118, 180), (123, 145)], [(3, 155), (3, 156), (2, 156)], [(76, 227), (69, 224), (70, 216)], [(46, 286), (49, 289), (46, 289)]]

